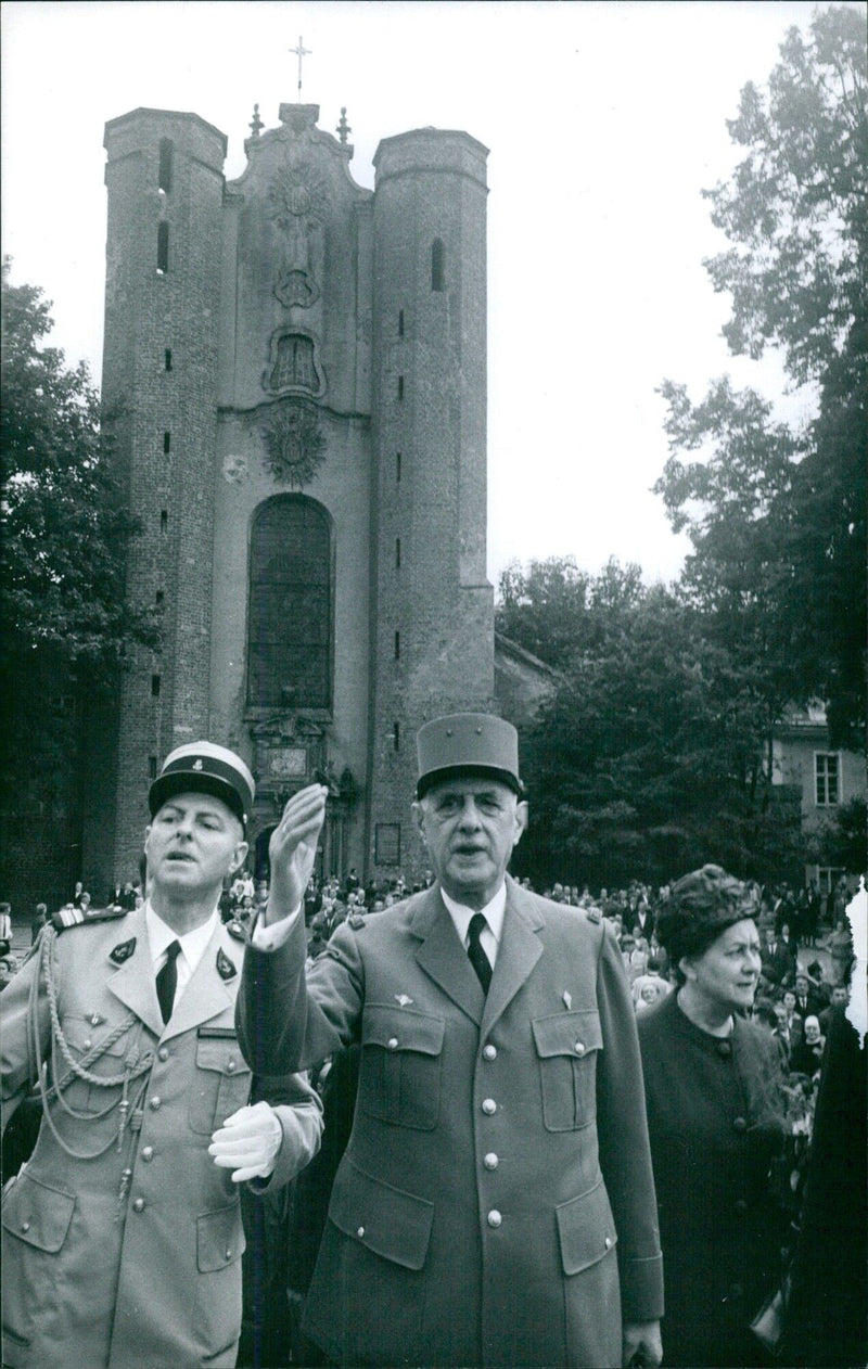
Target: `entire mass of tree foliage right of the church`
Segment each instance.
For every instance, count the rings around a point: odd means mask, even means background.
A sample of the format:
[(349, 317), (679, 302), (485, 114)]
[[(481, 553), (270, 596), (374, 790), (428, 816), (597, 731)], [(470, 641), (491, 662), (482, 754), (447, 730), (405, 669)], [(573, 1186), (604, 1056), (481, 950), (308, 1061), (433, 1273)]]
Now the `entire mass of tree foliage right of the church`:
[[(500, 631), (563, 676), (523, 747), (534, 821), (515, 867), (542, 884), (663, 882), (705, 860), (801, 879), (798, 795), (769, 782), (774, 724), (819, 697), (831, 745), (864, 749), (864, 16), (830, 7), (808, 37), (791, 29), (728, 129), (745, 156), (705, 192), (731, 244), (705, 263), (731, 297), (724, 335), (735, 355), (778, 348), (816, 415), (794, 428), (726, 376), (698, 402), (665, 381), (656, 491), (691, 541), (676, 585), (570, 559), (501, 576)], [(860, 815), (817, 838), (830, 864), (864, 862)]]

